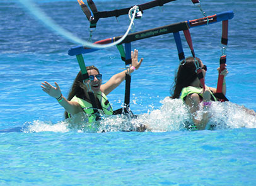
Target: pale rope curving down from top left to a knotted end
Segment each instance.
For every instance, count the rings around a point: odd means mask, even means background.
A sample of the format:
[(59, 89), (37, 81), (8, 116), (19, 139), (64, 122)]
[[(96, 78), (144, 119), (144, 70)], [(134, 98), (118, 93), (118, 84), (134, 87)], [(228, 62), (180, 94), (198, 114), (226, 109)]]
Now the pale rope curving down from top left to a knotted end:
[[(129, 28), (125, 32), (125, 35), (122, 36), (122, 38), (120, 38), (118, 41), (115, 41), (113, 43), (110, 43), (107, 45), (101, 45), (101, 44), (94, 44), (88, 41), (84, 41), (78, 38), (77, 36), (73, 35), (73, 33), (65, 30), (64, 28), (61, 28), (61, 26), (57, 25), (54, 22), (54, 20), (52, 20), (49, 16), (47, 16), (47, 14), (45, 14), (44, 11), (38, 8), (38, 6), (35, 3), (33, 3), (31, 0), (18, 0), (18, 1), (20, 1), (20, 3), (23, 4), (23, 6), (25, 6), (25, 8), (28, 9), (28, 11), (30, 11), (31, 14), (33, 14), (33, 16), (35, 16), (35, 18), (37, 18), (39, 21), (42, 21), (42, 23), (44, 23), (44, 25), (47, 26), (47, 28), (54, 31), (58, 35), (63, 36), (64, 38), (71, 41), (72, 43), (83, 45), (88, 48), (108, 48), (121, 43), (125, 39), (125, 37), (128, 35), (129, 31), (131, 31), (132, 25), (134, 25), (134, 18), (136, 16), (137, 11), (139, 11), (138, 6), (134, 6), (129, 10), (129, 18), (131, 20), (131, 23), (129, 25)], [(130, 13), (132, 13), (132, 18)]]

